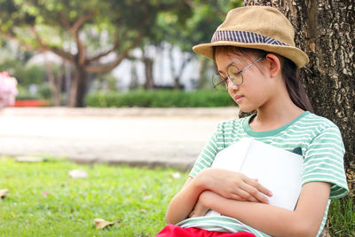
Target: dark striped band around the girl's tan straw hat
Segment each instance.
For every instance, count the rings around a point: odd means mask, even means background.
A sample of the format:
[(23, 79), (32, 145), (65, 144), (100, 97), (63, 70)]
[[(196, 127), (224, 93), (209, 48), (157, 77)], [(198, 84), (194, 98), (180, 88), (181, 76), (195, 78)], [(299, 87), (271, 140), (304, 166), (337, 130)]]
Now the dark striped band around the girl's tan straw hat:
[(288, 46), (287, 43), (282, 43), (268, 36), (262, 36), (252, 32), (237, 30), (217, 30), (212, 36), (211, 43), (215, 43), (218, 41), (233, 41), (241, 43), (268, 43)]

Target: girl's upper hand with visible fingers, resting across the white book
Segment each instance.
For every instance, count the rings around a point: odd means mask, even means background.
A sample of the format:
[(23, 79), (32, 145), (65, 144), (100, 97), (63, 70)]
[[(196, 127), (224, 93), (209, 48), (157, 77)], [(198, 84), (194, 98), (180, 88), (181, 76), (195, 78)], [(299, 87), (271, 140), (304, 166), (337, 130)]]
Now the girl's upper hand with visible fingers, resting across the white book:
[(264, 196), (272, 196), (272, 193), (260, 185), (256, 179), (222, 169), (202, 170), (196, 178), (201, 178), (207, 189), (219, 194), (227, 199), (236, 201), (255, 201), (268, 204), (269, 201)]

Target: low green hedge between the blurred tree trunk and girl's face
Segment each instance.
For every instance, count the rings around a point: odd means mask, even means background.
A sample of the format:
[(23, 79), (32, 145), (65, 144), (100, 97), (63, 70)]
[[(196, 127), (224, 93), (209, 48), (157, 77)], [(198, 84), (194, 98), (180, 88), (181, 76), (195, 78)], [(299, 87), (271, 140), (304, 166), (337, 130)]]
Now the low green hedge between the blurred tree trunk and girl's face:
[(230, 107), (228, 93), (218, 91), (131, 91), (89, 94), (88, 107)]

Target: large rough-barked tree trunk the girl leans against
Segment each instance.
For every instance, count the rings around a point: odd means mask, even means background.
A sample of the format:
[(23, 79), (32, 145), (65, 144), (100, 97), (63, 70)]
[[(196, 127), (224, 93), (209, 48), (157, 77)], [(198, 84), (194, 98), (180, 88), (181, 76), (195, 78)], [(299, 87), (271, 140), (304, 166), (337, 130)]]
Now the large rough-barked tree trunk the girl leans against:
[[(272, 3), (270, 3), (272, 2)], [(345, 170), (355, 195), (355, 3), (353, 0), (245, 0), (283, 12), (296, 32), (296, 45), (310, 57), (302, 70), (317, 115), (342, 131)]]

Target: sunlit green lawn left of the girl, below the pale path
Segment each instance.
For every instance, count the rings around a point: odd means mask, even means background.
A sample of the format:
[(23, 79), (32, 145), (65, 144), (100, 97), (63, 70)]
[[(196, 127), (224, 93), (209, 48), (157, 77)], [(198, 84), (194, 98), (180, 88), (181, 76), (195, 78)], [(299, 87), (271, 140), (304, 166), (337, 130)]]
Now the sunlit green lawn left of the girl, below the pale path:
[[(69, 178), (76, 169), (89, 177)], [(9, 190), (0, 199), (0, 236), (154, 236), (185, 182), (185, 174), (172, 178), (176, 172), (0, 158), (0, 189)], [(121, 223), (96, 230), (95, 218)]]

